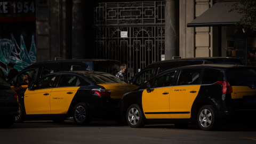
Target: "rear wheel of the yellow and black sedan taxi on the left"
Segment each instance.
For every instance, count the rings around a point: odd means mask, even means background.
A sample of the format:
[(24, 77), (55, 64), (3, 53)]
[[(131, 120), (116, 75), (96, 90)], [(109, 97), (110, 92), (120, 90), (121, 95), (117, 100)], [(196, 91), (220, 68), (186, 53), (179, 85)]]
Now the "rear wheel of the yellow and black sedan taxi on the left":
[(78, 103), (73, 109), (73, 119), (78, 125), (86, 125), (91, 121), (89, 108), (85, 103)]

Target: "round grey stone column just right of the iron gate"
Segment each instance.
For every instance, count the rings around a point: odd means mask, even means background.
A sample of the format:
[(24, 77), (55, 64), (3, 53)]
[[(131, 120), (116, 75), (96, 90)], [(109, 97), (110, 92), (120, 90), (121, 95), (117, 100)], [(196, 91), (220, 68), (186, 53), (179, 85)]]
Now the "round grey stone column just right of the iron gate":
[(170, 60), (179, 56), (179, 1), (165, 2), (165, 60)]

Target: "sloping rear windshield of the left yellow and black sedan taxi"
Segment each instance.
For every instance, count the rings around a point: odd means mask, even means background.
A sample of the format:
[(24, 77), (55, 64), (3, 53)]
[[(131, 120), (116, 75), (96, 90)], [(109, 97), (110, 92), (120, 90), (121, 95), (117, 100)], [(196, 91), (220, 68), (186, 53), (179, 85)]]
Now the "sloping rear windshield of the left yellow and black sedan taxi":
[(125, 83), (123, 80), (113, 76), (111, 74), (83, 74), (86, 78), (97, 84), (105, 84), (105, 83)]

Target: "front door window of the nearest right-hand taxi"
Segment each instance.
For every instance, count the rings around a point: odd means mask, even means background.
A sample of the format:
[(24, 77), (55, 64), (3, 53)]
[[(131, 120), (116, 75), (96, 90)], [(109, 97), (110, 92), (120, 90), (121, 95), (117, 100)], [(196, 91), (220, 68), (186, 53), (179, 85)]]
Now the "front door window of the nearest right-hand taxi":
[(171, 86), (174, 80), (175, 71), (159, 76), (155, 79), (152, 88)]

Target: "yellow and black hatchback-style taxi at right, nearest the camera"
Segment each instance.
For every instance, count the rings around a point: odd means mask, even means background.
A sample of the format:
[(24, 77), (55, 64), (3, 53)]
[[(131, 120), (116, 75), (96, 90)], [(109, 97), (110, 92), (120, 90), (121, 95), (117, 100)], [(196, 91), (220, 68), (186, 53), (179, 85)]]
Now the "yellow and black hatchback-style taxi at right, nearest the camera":
[(147, 122), (197, 123), (210, 131), (221, 123), (256, 121), (256, 67), (194, 65), (169, 69), (124, 94), (121, 116), (131, 127)]

